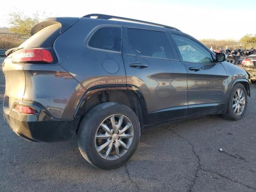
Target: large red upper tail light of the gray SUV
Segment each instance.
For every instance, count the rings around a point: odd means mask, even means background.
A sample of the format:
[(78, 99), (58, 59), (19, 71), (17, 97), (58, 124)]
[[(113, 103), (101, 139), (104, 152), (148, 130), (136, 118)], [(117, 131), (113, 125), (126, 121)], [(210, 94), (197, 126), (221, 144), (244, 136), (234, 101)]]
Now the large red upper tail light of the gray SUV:
[(12, 62), (46, 62), (50, 63), (53, 61), (52, 54), (47, 49), (26, 49), (17, 52), (12, 56)]

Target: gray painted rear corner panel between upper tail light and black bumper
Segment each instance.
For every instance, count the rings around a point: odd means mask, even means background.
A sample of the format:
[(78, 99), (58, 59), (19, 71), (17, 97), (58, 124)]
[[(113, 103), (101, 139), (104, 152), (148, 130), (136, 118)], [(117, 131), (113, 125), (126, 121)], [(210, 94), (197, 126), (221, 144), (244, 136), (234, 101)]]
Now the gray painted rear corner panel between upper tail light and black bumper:
[(59, 64), (24, 64), (23, 70), (23, 100), (42, 104), (54, 118), (73, 118), (86, 90), (81, 84)]

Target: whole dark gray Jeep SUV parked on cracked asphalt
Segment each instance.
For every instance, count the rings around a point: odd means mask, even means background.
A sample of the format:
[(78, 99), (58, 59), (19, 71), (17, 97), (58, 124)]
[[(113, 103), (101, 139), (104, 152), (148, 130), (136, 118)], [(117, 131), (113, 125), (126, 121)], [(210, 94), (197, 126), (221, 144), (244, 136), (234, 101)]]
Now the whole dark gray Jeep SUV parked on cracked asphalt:
[(98, 168), (127, 162), (144, 128), (246, 112), (248, 74), (176, 28), (90, 14), (49, 18), (31, 35), (6, 52), (6, 122), (35, 142), (77, 131), (82, 156)]

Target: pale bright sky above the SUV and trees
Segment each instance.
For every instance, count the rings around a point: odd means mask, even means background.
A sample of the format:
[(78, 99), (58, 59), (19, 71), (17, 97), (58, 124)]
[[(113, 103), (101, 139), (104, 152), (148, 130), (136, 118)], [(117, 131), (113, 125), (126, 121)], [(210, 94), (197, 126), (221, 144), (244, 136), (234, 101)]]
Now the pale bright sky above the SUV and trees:
[[(256, 0), (11, 0), (1, 2), (0, 27), (12, 12), (82, 17), (101, 13), (165, 24), (197, 39), (239, 40), (256, 34)], [(43, 16), (42, 16), (43, 17)]]

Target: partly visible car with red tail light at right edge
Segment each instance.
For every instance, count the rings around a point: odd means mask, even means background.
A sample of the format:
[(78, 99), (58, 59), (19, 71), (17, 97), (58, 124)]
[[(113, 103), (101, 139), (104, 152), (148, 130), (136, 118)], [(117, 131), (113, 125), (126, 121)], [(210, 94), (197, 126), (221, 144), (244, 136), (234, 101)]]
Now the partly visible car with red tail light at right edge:
[(256, 82), (256, 54), (246, 56), (242, 61), (242, 66), (249, 74), (249, 81), (251, 83)]

